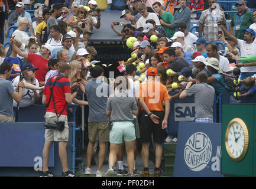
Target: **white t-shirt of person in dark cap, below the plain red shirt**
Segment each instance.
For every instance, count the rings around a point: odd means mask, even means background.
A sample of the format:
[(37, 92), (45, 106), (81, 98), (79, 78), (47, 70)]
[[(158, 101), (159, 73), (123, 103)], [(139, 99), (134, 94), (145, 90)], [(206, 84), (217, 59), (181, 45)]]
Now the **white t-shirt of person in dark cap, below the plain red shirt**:
[[(15, 77), (15, 79), (12, 82), (12, 85), (14, 86), (14, 89), (18, 86), (18, 83), (20, 82), (20, 76)], [(39, 87), (38, 80), (35, 79), (35, 86)], [(37, 93), (40, 93), (40, 90), (37, 90)], [(20, 107), (28, 107), (34, 104), (34, 92), (31, 89), (25, 89), (22, 90), (22, 97), (21, 101), (19, 103)], [(14, 107), (17, 107), (17, 102), (14, 100)]]

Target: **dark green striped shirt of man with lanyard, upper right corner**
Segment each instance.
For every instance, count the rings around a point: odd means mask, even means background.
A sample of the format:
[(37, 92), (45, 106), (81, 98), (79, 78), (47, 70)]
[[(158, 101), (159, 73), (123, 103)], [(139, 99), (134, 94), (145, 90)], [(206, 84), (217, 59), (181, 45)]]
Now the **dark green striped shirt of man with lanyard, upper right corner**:
[[(235, 37), (239, 40), (244, 40), (244, 29), (248, 29), (251, 24), (253, 24), (255, 21), (252, 17), (252, 12), (246, 11), (239, 15), (236, 14), (231, 19), (231, 26), (234, 27), (234, 34)], [(236, 30), (236, 27), (240, 25), (239, 30)]]

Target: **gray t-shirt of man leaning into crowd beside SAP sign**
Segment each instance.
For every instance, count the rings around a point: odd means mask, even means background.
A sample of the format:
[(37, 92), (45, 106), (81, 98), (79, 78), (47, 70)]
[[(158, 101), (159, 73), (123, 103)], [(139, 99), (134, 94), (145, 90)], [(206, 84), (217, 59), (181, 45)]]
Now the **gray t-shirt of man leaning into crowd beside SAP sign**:
[(215, 89), (207, 83), (194, 84), (185, 91), (188, 96), (195, 94), (196, 118), (213, 119)]

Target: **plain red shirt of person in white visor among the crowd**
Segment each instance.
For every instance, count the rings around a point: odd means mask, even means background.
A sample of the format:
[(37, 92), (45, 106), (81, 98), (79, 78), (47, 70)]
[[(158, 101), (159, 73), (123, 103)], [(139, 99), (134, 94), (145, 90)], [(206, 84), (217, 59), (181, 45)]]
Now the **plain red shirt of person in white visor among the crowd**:
[(35, 78), (38, 82), (44, 82), (48, 70), (48, 60), (44, 59), (41, 55), (28, 53), (28, 61), (34, 67), (38, 67), (35, 71)]

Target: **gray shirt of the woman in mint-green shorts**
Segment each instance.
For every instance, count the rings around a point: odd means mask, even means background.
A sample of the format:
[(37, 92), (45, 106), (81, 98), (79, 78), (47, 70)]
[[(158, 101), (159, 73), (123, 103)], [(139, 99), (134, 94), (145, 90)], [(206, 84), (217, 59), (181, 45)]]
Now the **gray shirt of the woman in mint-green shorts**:
[(138, 110), (134, 97), (127, 97), (127, 93), (116, 90), (108, 99), (107, 110), (111, 111), (111, 120), (114, 122), (134, 120), (132, 110)]

